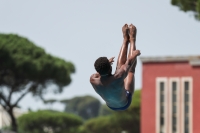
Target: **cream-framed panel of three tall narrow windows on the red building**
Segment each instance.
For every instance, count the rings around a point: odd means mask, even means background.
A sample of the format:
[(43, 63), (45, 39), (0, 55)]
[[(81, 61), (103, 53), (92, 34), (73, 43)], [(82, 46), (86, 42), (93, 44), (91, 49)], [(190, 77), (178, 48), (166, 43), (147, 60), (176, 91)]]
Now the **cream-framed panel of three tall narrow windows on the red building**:
[(156, 133), (192, 133), (192, 78), (156, 79)]

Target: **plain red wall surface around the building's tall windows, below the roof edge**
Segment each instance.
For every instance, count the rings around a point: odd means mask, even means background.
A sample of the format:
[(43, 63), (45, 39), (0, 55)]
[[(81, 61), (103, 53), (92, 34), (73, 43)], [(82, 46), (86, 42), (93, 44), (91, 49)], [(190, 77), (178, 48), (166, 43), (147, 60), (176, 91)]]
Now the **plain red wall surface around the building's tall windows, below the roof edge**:
[(193, 78), (193, 132), (200, 133), (200, 66), (188, 62), (144, 63), (142, 66), (141, 133), (156, 133), (156, 77)]

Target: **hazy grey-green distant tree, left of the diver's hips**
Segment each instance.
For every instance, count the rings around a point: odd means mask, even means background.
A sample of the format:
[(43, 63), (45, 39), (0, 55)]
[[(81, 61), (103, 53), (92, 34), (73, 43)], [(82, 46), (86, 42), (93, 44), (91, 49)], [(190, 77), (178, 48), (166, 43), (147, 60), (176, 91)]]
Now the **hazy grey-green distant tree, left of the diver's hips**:
[(65, 111), (77, 114), (84, 119), (98, 116), (101, 103), (92, 96), (74, 97), (72, 99), (62, 100), (65, 104)]

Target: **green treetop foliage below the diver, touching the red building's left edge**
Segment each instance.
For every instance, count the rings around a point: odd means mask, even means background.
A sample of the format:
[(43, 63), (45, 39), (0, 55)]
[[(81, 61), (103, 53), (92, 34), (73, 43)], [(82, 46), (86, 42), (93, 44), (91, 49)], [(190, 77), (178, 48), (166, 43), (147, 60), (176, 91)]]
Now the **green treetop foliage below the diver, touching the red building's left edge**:
[(140, 132), (140, 90), (136, 90), (131, 106), (125, 111), (88, 120), (84, 128), (90, 133)]

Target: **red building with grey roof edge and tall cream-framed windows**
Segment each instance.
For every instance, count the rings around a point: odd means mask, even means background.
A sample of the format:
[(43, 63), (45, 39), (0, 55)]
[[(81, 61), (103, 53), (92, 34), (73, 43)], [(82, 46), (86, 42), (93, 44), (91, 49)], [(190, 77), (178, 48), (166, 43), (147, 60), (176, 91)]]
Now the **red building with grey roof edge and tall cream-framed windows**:
[(200, 133), (200, 56), (140, 59), (141, 133)]

